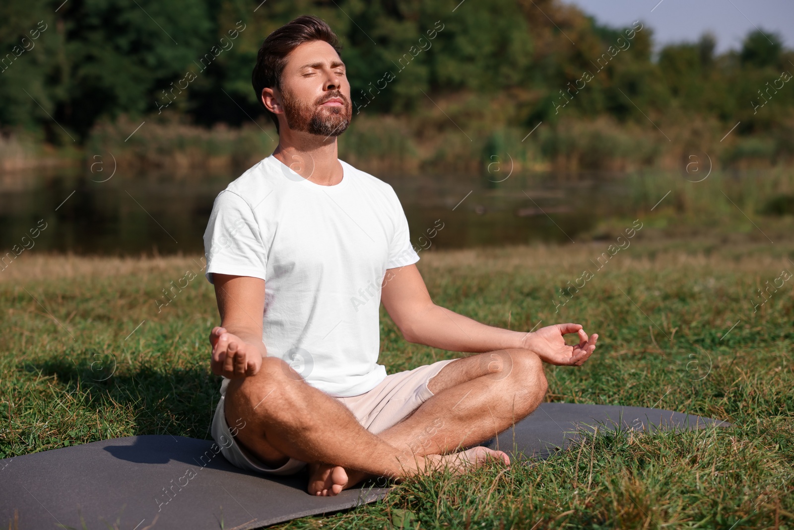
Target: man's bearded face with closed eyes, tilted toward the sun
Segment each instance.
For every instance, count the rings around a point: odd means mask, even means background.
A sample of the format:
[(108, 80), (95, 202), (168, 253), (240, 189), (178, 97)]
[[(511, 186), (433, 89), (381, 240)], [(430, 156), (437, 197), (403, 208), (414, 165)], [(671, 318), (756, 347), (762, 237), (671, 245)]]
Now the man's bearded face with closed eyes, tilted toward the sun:
[(281, 75), (284, 117), (291, 130), (331, 137), (350, 125), (350, 83), (345, 64), (325, 41), (300, 44)]

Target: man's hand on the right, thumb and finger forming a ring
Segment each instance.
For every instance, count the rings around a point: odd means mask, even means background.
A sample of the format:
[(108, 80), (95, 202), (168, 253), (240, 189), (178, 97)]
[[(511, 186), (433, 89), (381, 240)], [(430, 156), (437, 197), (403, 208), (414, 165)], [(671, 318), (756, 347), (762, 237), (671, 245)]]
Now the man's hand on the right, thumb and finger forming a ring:
[[(579, 344), (568, 346), (565, 336), (569, 333), (579, 335)], [(554, 324), (527, 333), (522, 339), (522, 347), (532, 350), (543, 362), (557, 366), (582, 366), (595, 350), (598, 334), (588, 337), (581, 324)]]

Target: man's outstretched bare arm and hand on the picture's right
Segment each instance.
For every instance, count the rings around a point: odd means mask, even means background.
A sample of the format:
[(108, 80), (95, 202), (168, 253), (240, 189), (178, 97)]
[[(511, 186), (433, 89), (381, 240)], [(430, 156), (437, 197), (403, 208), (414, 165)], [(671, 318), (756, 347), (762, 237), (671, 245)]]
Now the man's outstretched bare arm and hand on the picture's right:
[[(416, 265), (388, 269), (380, 300), (408, 342), (441, 350), (484, 352), (506, 348), (533, 350), (545, 362), (580, 366), (595, 350), (598, 335), (588, 337), (580, 324), (565, 323), (524, 332), (488, 326), (441, 308), (430, 299)], [(563, 335), (576, 333), (576, 346)]]

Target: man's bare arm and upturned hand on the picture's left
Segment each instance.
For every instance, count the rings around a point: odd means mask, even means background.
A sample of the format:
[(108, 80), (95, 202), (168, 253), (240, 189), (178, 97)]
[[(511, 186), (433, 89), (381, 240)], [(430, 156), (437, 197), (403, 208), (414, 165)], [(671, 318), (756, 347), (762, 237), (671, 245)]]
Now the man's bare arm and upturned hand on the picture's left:
[(264, 280), (213, 273), (221, 326), (210, 333), (213, 373), (225, 377), (256, 374), (268, 354), (262, 342)]

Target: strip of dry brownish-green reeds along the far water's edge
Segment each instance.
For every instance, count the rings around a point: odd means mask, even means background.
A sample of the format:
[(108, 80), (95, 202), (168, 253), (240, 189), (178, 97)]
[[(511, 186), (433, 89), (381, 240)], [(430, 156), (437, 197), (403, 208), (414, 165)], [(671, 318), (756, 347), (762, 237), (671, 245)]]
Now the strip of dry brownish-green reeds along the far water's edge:
[[(457, 103), (456, 114), (467, 105)], [(455, 106), (454, 102), (449, 106)], [(480, 114), (476, 114), (480, 116)], [(635, 171), (656, 168), (703, 175), (705, 168), (791, 167), (794, 145), (784, 134), (742, 135), (715, 120), (620, 123), (613, 118), (560, 118), (556, 123), (494, 127), (482, 117), (459, 128), (440, 109), (418, 117), (355, 115), (339, 139), (339, 156), (371, 172)], [(646, 126), (647, 125), (647, 126)], [(792, 125), (794, 129), (794, 125)], [(112, 153), (122, 168), (225, 168), (253, 164), (272, 153), (278, 135), (269, 121), (212, 129), (184, 118), (121, 116), (100, 122), (85, 145), (62, 147), (16, 133), (0, 140), (0, 172), (53, 165), (90, 167)]]

